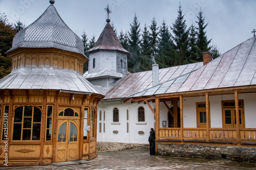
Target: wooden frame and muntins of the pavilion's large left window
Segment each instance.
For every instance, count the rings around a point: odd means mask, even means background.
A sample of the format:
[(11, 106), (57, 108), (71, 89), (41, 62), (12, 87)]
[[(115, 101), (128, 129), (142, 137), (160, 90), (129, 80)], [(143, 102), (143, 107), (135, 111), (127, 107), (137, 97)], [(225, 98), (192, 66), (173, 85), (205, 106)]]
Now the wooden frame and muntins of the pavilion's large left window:
[[(32, 116), (24, 116), (24, 113), (25, 113), (25, 107), (26, 106), (31, 106), (32, 107)], [(22, 113), (22, 122), (20, 123), (15, 123), (14, 120), (15, 120), (15, 110), (19, 107), (23, 107), (23, 113)], [(41, 111), (41, 120), (40, 120), (40, 123), (34, 123), (34, 108), (38, 108), (40, 111)], [(40, 108), (41, 107), (41, 108)], [(12, 125), (12, 137), (11, 137), (11, 141), (40, 141), (41, 139), (41, 131), (42, 131), (42, 105), (16, 105), (15, 108), (13, 109), (13, 114), (14, 114), (14, 118), (13, 118), (13, 125)], [(24, 128), (24, 118), (29, 118), (31, 117), (31, 128)], [(15, 124), (22, 124), (22, 128), (21, 128), (21, 132), (20, 132), (20, 139), (19, 140), (15, 140), (13, 139), (13, 131), (14, 131), (14, 125)], [(36, 140), (33, 140), (33, 125), (34, 124), (40, 124), (40, 136), (39, 136), (39, 139), (36, 139)], [(31, 130), (30, 132), (30, 140), (23, 140), (23, 130)]]

